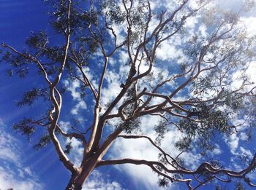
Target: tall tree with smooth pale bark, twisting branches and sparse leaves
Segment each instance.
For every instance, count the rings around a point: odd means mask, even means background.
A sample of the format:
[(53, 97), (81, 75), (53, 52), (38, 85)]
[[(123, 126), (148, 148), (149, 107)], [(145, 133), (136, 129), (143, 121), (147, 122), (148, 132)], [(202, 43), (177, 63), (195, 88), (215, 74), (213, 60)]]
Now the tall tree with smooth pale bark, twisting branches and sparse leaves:
[[(13, 128), (28, 135), (29, 140), (36, 132), (42, 135), (36, 149), (53, 143), (60, 161), (71, 173), (66, 189), (81, 189), (97, 167), (122, 164), (150, 167), (159, 175), (159, 186), (170, 181), (197, 189), (214, 181), (241, 179), (255, 187), (248, 175), (255, 170), (256, 154), (244, 158), (242, 170), (227, 168), (207, 157), (217, 135), (227, 138), (242, 128), (252, 136), (256, 87), (247, 71), (255, 60), (256, 38), (246, 32), (239, 18), (252, 7), (251, 1), (238, 12), (222, 10), (203, 0), (171, 1), (168, 7), (144, 0), (47, 3), (54, 36), (46, 31), (31, 33), (24, 50), (2, 43), (1, 58), (10, 63), (10, 76), (23, 78), (29, 72), (39, 72), (43, 85), (25, 92), (17, 105), (31, 106), (44, 98), (44, 116), (25, 117)], [(195, 24), (196, 31), (188, 27), (193, 19), (201, 23)], [(176, 48), (165, 52), (166, 46)], [(118, 60), (120, 52), (127, 56), (125, 62)], [(109, 87), (106, 75), (110, 77), (110, 71), (119, 74), (116, 84), (120, 88), (115, 87), (118, 94), (107, 103), (104, 88)], [(79, 100), (94, 105), (86, 113), (91, 120), (70, 118), (74, 124), (67, 130), (60, 122), (61, 111), (71, 100), (64, 80), (79, 82)], [(155, 139), (140, 131), (145, 116), (160, 118), (154, 127)], [(238, 123), (238, 119), (243, 121)], [(168, 138), (167, 131), (173, 129), (181, 134), (175, 143), (181, 153), (174, 156), (172, 150), (161, 148), (161, 140)], [(72, 145), (64, 145), (63, 138), (80, 140), (80, 165), (70, 161)], [(118, 138), (148, 140), (152, 149), (158, 149), (159, 160), (103, 159)], [(181, 158), (192, 149), (204, 158), (195, 169)]]

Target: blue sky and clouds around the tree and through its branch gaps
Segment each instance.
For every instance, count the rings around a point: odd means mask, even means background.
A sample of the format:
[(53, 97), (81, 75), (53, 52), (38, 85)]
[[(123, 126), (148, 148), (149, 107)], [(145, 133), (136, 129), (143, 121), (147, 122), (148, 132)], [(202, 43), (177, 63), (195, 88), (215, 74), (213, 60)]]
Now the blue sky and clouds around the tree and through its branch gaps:
[[(237, 2), (237, 1), (236, 1)], [(228, 4), (230, 5), (230, 4)], [(227, 6), (227, 4), (225, 4)], [(233, 5), (234, 6), (234, 5)], [(47, 30), (50, 31), (50, 25), (48, 25), (48, 16), (45, 14), (48, 12), (48, 8), (45, 7), (42, 1), (39, 0), (1, 0), (0, 2), (0, 42), (4, 41), (7, 44), (11, 44), (12, 47), (17, 49), (23, 48), (23, 42), (26, 37), (29, 36), (31, 31)], [(252, 15), (255, 16), (255, 12)], [(162, 53), (163, 57), (165, 52)], [(117, 55), (117, 59), (125, 60), (125, 55)], [(115, 60), (112, 60), (115, 62)], [(110, 62), (111, 65), (111, 62)], [(37, 116), (40, 113), (39, 107), (44, 105), (43, 100), (36, 103), (34, 106), (25, 106), (18, 108), (15, 103), (21, 97), (21, 92), (29, 90), (31, 86), (37, 86), (39, 82), (42, 82), (35, 73), (29, 74), (34, 77), (31, 82), (29, 77), (25, 79), (19, 79), (17, 76), (9, 78), (6, 74), (7, 66), (4, 63), (0, 65), (0, 188), (7, 189), (14, 187), (15, 189), (64, 189), (69, 181), (69, 172), (59, 162), (56, 151), (53, 146), (47, 146), (45, 149), (35, 151), (32, 146), (28, 145), (28, 140), (25, 136), (21, 136), (18, 133), (12, 131), (12, 124), (19, 119), (23, 119), (24, 116), (32, 115)], [(118, 70), (117, 70), (118, 71)], [(115, 73), (108, 73), (115, 78)], [(112, 78), (111, 78), (112, 79)], [(108, 80), (108, 79), (107, 79)], [(107, 82), (108, 83), (108, 82)], [(110, 83), (110, 82), (109, 82)], [(113, 84), (114, 82), (111, 81)], [(76, 84), (68, 83), (69, 98), (75, 100), (71, 106), (78, 105), (78, 111), (84, 111), (79, 107), (80, 99), (75, 94)], [(105, 86), (105, 96), (115, 93), (118, 88), (113, 90), (115, 92), (108, 91), (108, 85)], [(109, 92), (109, 94), (107, 93)], [(109, 95), (110, 96), (110, 95)], [(69, 104), (68, 104), (69, 106)], [(68, 107), (67, 106), (67, 107)], [(91, 105), (87, 105), (91, 106)], [(66, 107), (66, 108), (67, 108)], [(63, 124), (67, 124), (69, 119), (69, 112), (72, 108), (64, 111), (66, 116), (61, 117)], [(89, 118), (87, 118), (89, 119)], [(156, 122), (154, 119), (148, 121), (148, 123)], [(151, 125), (152, 127), (153, 125)], [(150, 126), (149, 126), (150, 127)], [(107, 131), (108, 132), (108, 131)], [(176, 138), (173, 133), (172, 138)], [(236, 154), (241, 154), (243, 150), (240, 147), (247, 148), (254, 146), (255, 141), (246, 143), (246, 140), (241, 140), (241, 137), (233, 136), (229, 140), (224, 140), (219, 137), (220, 149), (216, 150), (214, 157), (221, 157), (225, 160), (225, 163), (232, 165), (233, 162), (230, 157), (236, 157)], [(238, 143), (239, 146), (233, 143)], [(73, 142), (75, 144), (75, 142)], [(169, 141), (164, 141), (169, 143)], [(118, 141), (113, 149), (110, 149), (110, 153), (107, 157), (120, 157), (129, 156), (130, 151), (135, 151), (136, 157), (143, 157), (143, 154), (152, 154), (151, 151), (147, 151), (147, 143), (143, 141), (136, 141), (135, 146), (131, 146), (130, 149), (125, 148), (124, 141)], [(135, 147), (138, 146), (138, 149)], [(234, 148), (233, 154), (230, 150)], [(79, 145), (77, 147), (79, 151)], [(219, 153), (218, 153), (219, 151)], [(246, 152), (246, 149), (245, 151)], [(155, 153), (153, 151), (153, 153)], [(77, 154), (77, 153), (76, 153)], [(141, 155), (140, 155), (141, 154)], [(191, 155), (190, 155), (191, 156)], [(197, 154), (195, 154), (195, 157)], [(75, 157), (75, 156), (74, 156)], [(150, 155), (151, 157), (151, 155)], [(152, 156), (154, 159), (154, 156)], [(157, 189), (157, 186), (152, 186), (152, 181), (156, 180), (156, 175), (151, 173), (146, 167), (102, 167), (97, 169), (86, 184), (85, 189)], [(184, 186), (172, 186), (170, 189), (183, 189)], [(213, 186), (209, 187), (210, 189)], [(247, 187), (247, 189), (249, 189)]]

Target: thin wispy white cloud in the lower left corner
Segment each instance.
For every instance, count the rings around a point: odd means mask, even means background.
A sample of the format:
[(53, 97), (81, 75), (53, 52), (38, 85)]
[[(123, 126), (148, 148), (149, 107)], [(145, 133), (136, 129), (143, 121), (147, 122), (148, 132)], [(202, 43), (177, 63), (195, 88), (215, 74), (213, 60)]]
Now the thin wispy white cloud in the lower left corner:
[(1, 189), (34, 190), (43, 189), (30, 167), (23, 164), (20, 140), (4, 130), (0, 119), (0, 185)]

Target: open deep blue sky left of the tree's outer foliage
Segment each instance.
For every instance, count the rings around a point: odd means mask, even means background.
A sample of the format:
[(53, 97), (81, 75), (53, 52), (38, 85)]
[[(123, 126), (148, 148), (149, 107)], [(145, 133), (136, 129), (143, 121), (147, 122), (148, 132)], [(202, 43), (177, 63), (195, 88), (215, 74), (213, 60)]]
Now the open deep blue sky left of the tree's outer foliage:
[[(42, 1), (1, 1), (0, 10), (2, 12), (0, 28), (3, 31), (0, 34), (0, 39), (12, 44), (14, 47), (22, 48), (24, 40), (31, 31), (48, 28), (48, 17), (45, 14), (48, 10)], [(4, 176), (1, 176), (0, 186), (1, 188), (4, 186), (7, 189), (8, 185), (12, 187), (11, 185), (13, 184), (13, 187), (16, 187), (16, 189), (21, 188), (21, 186), (25, 189), (25, 186), (32, 186), (38, 183), (40, 186), (46, 187), (43, 189), (64, 189), (65, 184), (61, 183), (61, 181), (68, 181), (69, 173), (61, 166), (52, 147), (49, 146), (42, 151), (34, 151), (31, 147), (32, 145), (27, 146), (26, 143), (28, 141), (26, 137), (21, 137), (12, 131), (12, 124), (29, 112), (34, 111), (34, 108), (19, 109), (15, 106), (15, 100), (18, 100), (18, 97), (20, 97), (20, 87), (21, 89), (27, 89), (31, 82), (28, 78), (22, 80), (8, 78), (5, 68), (6, 66), (1, 65), (1, 130), (12, 135), (14, 140), (16, 140), (17, 149), (10, 149), (10, 152), (13, 151), (13, 154), (18, 158), (7, 160), (4, 159), (4, 156), (1, 157), (1, 167), (4, 167), (7, 173), (9, 170), (10, 175), (14, 172), (14, 175), (10, 183), (7, 182), (7, 184), (1, 184), (4, 183)], [(11, 144), (12, 140), (10, 138), (1, 138), (1, 143)], [(1, 146), (5, 146), (5, 144), (1, 144)], [(4, 151), (2, 153), (5, 154)], [(10, 169), (8, 169), (9, 167)], [(26, 172), (23, 178), (18, 176), (18, 170), (23, 170), (24, 167), (31, 168), (36, 177), (31, 177)], [(1, 173), (3, 172), (1, 171)]]

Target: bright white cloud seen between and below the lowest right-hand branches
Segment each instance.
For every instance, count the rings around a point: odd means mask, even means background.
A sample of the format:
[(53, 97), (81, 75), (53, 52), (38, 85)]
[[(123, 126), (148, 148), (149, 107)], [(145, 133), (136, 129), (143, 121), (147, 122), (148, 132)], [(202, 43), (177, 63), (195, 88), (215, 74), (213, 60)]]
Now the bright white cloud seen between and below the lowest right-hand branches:
[[(148, 135), (154, 140), (155, 132), (154, 126), (159, 122), (158, 116), (145, 116), (143, 117), (141, 123), (141, 132)], [(180, 151), (174, 146), (175, 142), (181, 138), (181, 133), (176, 129), (171, 129), (165, 134), (162, 140), (161, 147), (166, 152), (170, 152), (170, 155), (176, 157)], [(122, 158), (132, 158), (132, 159), (146, 159), (158, 161), (159, 155), (158, 149), (154, 148), (151, 143), (146, 138), (139, 139), (123, 139), (118, 138), (110, 149), (110, 154), (108, 154), (108, 159), (122, 159)], [(195, 168), (200, 162), (200, 156), (198, 154), (181, 154), (181, 157), (185, 159), (191, 168)], [(132, 181), (136, 183), (143, 184), (145, 189), (159, 189), (157, 185), (158, 177), (150, 167), (145, 165), (118, 165), (116, 166), (118, 170), (125, 171), (131, 178)], [(177, 189), (177, 186), (171, 184), (170, 189)]]

